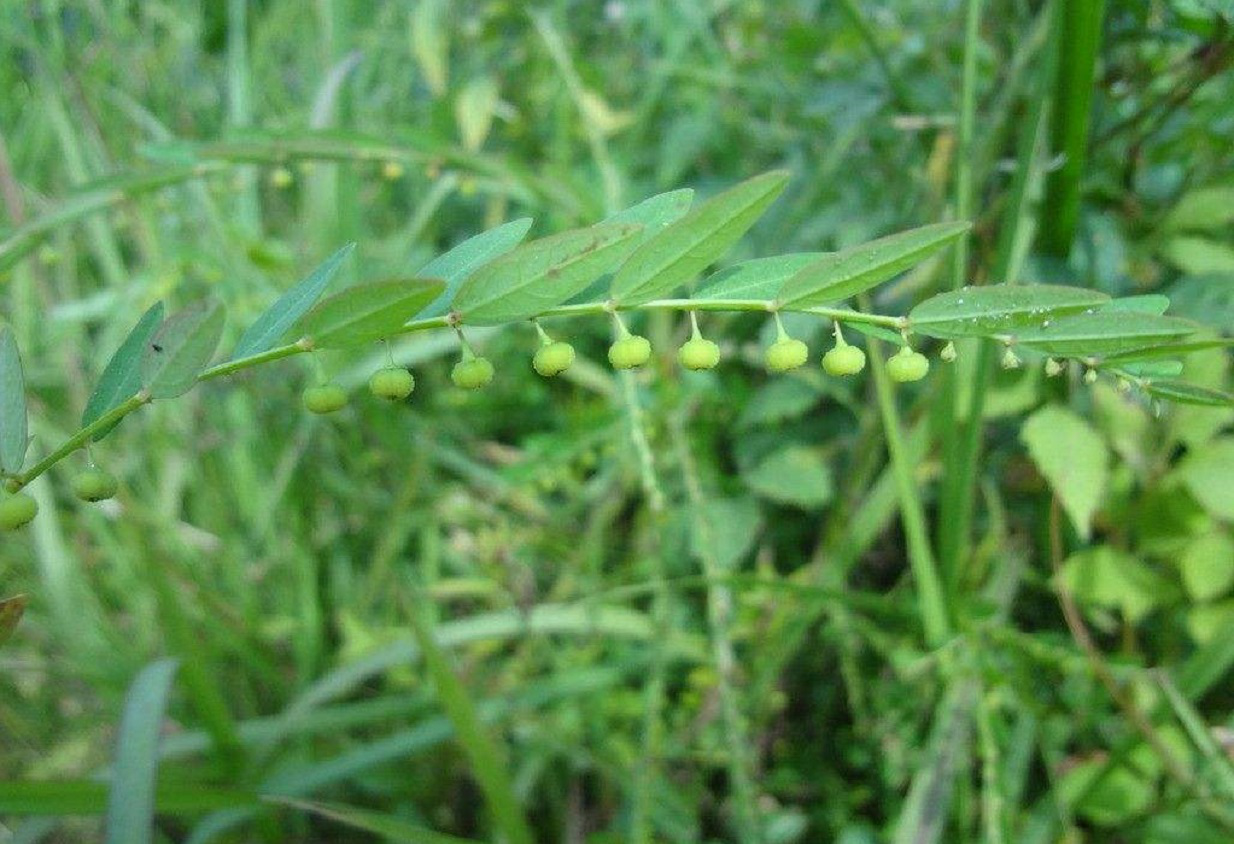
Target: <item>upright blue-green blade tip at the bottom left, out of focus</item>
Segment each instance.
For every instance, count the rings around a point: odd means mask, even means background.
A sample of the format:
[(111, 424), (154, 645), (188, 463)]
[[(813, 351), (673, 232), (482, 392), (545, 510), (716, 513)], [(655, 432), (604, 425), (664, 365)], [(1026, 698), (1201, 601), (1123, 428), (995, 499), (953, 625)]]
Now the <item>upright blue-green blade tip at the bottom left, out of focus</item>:
[(154, 833), (158, 742), (176, 661), (151, 663), (128, 687), (107, 797), (106, 844), (149, 844)]

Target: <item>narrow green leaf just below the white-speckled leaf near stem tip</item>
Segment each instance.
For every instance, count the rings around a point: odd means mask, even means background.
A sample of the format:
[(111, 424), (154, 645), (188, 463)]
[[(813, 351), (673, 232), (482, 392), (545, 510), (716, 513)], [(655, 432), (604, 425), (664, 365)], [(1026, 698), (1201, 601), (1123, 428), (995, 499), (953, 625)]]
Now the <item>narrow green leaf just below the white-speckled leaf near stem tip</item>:
[(1195, 333), (1199, 326), (1178, 317), (1097, 311), (1046, 320), (1016, 332), (1017, 342), (1060, 357), (1101, 357), (1130, 352)]

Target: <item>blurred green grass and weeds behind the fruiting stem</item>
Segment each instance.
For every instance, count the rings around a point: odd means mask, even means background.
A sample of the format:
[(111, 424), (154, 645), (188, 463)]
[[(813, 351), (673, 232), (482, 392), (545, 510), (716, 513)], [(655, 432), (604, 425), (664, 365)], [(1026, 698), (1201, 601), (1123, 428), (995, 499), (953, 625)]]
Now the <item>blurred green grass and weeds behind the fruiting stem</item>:
[[(872, 306), (1067, 283), (1229, 334), (1232, 58), (1219, 0), (10, 4), (32, 452), (158, 299), (226, 301), (233, 343), (348, 241), (336, 288), (772, 167), (727, 263), (971, 218)], [(901, 433), (870, 378), (768, 376), (765, 318), (708, 316), (707, 374), (644, 320), (632, 378), (602, 320), (558, 381), (529, 328), (474, 332), (479, 394), (417, 334), (406, 406), (310, 417), (285, 362), (127, 421), (94, 452), (114, 502), (35, 482), (0, 539), (0, 597), (30, 596), (0, 840), (142, 840), (107, 793), (141, 792), (154, 727), (154, 840), (1230, 840), (1234, 412), (961, 344), (897, 391)], [(817, 362), (827, 325), (789, 323)], [(350, 389), (383, 363), (323, 355)], [(1220, 348), (1178, 365), (1229, 386)]]

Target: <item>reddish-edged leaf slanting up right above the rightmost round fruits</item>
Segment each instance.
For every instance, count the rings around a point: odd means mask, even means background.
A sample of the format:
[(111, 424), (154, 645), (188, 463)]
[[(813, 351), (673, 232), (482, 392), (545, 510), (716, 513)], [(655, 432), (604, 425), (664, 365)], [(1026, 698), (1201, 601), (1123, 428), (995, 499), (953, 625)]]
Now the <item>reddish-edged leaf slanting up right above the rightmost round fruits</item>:
[(776, 299), (785, 310), (802, 311), (856, 296), (919, 264), (970, 227), (934, 223), (833, 252), (785, 281)]

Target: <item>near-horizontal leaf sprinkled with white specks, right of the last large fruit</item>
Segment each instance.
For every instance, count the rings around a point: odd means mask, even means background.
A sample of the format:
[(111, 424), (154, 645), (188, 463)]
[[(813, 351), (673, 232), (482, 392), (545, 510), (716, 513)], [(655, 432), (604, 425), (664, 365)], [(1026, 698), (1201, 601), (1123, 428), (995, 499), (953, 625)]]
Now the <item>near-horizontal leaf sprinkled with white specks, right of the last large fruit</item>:
[(928, 337), (990, 337), (1107, 301), (1106, 294), (1082, 288), (992, 284), (930, 296), (908, 312), (908, 321)]

